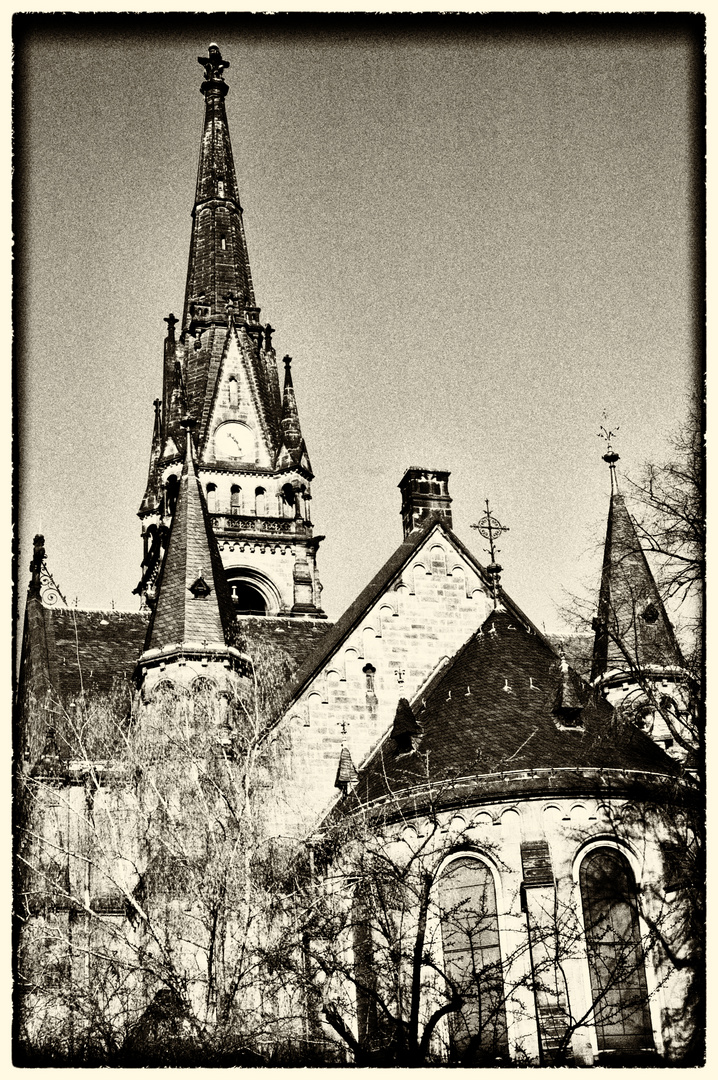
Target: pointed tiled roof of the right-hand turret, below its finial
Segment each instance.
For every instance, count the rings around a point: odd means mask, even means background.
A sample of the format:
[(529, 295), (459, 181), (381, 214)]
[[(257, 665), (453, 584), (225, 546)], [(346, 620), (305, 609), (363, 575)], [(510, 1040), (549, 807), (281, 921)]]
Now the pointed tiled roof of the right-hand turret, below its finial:
[(623, 496), (614, 491), (591, 675), (646, 665), (682, 667), (683, 661)]

